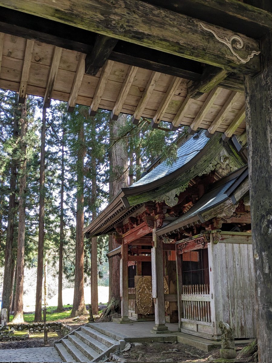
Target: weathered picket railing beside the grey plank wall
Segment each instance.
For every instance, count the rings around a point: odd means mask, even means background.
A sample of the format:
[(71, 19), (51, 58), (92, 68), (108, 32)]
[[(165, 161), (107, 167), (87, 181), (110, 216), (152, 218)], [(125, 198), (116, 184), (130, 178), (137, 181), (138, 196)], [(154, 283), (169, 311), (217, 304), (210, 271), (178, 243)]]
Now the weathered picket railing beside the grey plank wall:
[(211, 322), (210, 285), (182, 285), (184, 319)]

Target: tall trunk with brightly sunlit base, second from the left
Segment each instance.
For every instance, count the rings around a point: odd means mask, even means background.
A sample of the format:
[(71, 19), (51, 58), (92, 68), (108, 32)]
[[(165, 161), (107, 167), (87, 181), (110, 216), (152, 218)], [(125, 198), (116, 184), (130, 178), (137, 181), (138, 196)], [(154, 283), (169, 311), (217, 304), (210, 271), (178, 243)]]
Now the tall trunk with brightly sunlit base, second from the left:
[[(26, 99), (22, 105), (21, 118), (21, 162), (19, 179), (19, 222), (18, 222), (18, 244), (16, 262), (16, 291), (13, 323), (24, 322), (23, 317), (23, 293), (24, 293), (24, 257), (25, 257), (25, 193), (26, 193)], [(10, 284), (9, 284), (10, 286)]]

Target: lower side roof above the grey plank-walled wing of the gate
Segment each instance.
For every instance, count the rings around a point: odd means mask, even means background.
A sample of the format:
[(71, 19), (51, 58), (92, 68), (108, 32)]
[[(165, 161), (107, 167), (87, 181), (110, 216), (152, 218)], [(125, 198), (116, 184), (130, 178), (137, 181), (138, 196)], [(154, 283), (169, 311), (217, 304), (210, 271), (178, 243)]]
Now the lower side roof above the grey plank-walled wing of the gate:
[[(245, 188), (243, 188), (243, 195), (248, 191), (247, 176), (248, 168), (246, 166), (239, 170), (236, 170), (235, 172), (221, 179), (219, 183), (216, 183), (217, 186), (205, 195), (203, 195), (201, 199), (188, 212), (184, 213), (184, 215), (167, 224), (166, 226), (158, 229), (158, 231), (156, 232), (157, 236), (167, 235), (189, 224), (204, 223), (211, 217), (216, 217), (218, 209), (214, 209), (214, 215), (205, 212), (211, 210), (218, 205), (221, 205), (223, 202), (226, 201), (229, 202), (226, 204), (227, 207), (235, 204), (238, 200), (231, 198), (231, 196), (243, 182), (246, 186)], [(221, 212), (222, 211), (223, 210), (221, 209)], [(207, 215), (209, 215), (208, 219), (206, 217)]]

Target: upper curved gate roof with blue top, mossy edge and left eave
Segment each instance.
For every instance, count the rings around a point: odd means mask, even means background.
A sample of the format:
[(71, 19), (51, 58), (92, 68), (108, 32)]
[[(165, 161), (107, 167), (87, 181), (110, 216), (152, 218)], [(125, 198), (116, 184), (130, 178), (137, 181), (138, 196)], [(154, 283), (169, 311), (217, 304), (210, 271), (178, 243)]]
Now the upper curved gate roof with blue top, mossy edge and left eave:
[(122, 188), (114, 200), (85, 228), (85, 236), (110, 233), (114, 226), (144, 203), (179, 188), (200, 174), (223, 148), (221, 135), (205, 136), (204, 130), (191, 136), (179, 149), (178, 160), (168, 166), (162, 162), (128, 188)]

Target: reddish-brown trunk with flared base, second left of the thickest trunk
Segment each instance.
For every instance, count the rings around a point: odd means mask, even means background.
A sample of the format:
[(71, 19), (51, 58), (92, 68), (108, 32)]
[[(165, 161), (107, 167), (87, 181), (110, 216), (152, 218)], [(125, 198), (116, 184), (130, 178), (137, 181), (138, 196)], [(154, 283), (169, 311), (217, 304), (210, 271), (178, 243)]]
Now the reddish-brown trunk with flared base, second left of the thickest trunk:
[(75, 287), (71, 317), (87, 314), (84, 301), (84, 121), (78, 120), (78, 155), (77, 155), (77, 222), (75, 236)]

